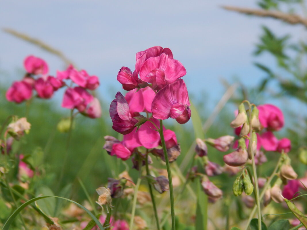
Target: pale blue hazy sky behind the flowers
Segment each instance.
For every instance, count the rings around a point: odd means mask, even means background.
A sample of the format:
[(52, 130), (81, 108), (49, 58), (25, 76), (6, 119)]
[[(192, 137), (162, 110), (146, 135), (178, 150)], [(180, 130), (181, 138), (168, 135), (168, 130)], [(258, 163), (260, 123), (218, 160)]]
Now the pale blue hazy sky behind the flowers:
[[(252, 56), (268, 25), (275, 33), (306, 38), (302, 26), (288, 26), (273, 19), (244, 16), (221, 9), (222, 5), (256, 7), (254, 1), (1, 1), (0, 27), (26, 33), (61, 50), (77, 67), (100, 79), (100, 95), (111, 102), (121, 90), (116, 75), (122, 66), (134, 68), (135, 53), (152, 46), (169, 47), (187, 69), (183, 77), (190, 94), (207, 95), (212, 108), (224, 92), (221, 79), (234, 76), (256, 86), (263, 73), (254, 61), (274, 66), (268, 55)], [(50, 74), (63, 70), (60, 59), (32, 44), (0, 32), (1, 82), (22, 76), (25, 56), (45, 59)], [(268, 99), (267, 102), (271, 102)], [(277, 102), (278, 103), (278, 102)], [(307, 112), (306, 112), (307, 113)]]

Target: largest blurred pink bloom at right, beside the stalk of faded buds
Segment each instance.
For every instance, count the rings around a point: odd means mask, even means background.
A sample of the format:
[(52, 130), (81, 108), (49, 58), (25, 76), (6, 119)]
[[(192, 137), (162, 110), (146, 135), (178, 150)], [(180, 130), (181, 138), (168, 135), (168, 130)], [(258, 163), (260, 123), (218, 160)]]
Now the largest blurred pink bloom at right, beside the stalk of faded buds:
[(284, 126), (284, 116), (279, 108), (270, 104), (259, 105), (257, 108), (260, 124), (264, 128), (278, 131)]

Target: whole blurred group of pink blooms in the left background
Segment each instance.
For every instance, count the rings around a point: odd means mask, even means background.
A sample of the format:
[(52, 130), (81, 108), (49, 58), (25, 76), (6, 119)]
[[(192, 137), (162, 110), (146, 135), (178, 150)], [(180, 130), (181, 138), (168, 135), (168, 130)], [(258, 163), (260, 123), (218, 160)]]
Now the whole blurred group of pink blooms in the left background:
[[(24, 67), (26, 74), (21, 81), (13, 82), (6, 92), (6, 99), (10, 102), (21, 103), (32, 98), (33, 90), (37, 97), (49, 99), (58, 89), (67, 86), (64, 94), (62, 107), (77, 109), (83, 115), (90, 118), (101, 116), (99, 100), (87, 90), (95, 90), (99, 86), (97, 76), (90, 76), (85, 70), (77, 71), (70, 65), (65, 71), (57, 71), (56, 77), (48, 74), (47, 63), (38, 57), (28, 56), (25, 58)], [(68, 84), (64, 80), (71, 80)], [(72, 88), (75, 83), (77, 86)]]

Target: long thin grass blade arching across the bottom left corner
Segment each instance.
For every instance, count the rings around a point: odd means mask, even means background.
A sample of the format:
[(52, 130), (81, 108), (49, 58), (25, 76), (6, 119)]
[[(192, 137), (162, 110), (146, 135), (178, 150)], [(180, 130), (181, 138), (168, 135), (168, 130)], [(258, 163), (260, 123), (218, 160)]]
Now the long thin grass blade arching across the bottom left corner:
[(12, 215), (10, 215), (10, 217), (6, 220), (2, 230), (9, 230), (10, 229), (10, 225), (12, 224), (12, 222), (14, 221), (15, 217), (17, 217), (17, 215), (21, 212), (22, 209), (24, 209), (26, 206), (28, 206), (29, 204), (33, 203), (34, 201), (38, 201), (44, 198), (49, 198), (49, 197), (53, 197), (53, 198), (59, 198), (59, 199), (64, 199), (67, 200), (69, 202), (74, 203), (75, 205), (77, 205), (78, 207), (80, 207), (81, 209), (83, 209), (88, 215), (90, 215), (90, 217), (95, 221), (95, 223), (98, 225), (98, 227), (100, 228), (100, 230), (104, 230), (103, 226), (101, 225), (101, 223), (99, 222), (99, 220), (97, 220), (97, 218), (93, 215), (93, 213), (91, 213), (87, 208), (85, 208), (83, 205), (80, 205), (79, 203), (77, 203), (76, 201), (72, 201), (69, 200), (67, 198), (64, 197), (57, 197), (57, 196), (43, 196), (43, 197), (35, 197), (27, 202), (25, 202), (24, 204), (20, 205), (18, 207), (18, 209), (16, 209), (14, 211), (14, 213), (12, 213)]

